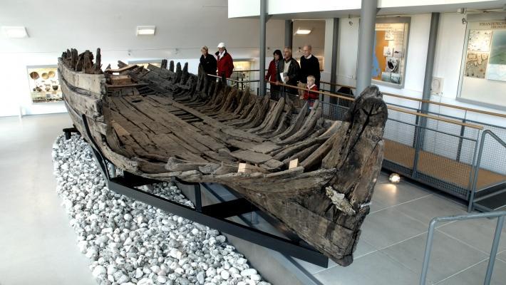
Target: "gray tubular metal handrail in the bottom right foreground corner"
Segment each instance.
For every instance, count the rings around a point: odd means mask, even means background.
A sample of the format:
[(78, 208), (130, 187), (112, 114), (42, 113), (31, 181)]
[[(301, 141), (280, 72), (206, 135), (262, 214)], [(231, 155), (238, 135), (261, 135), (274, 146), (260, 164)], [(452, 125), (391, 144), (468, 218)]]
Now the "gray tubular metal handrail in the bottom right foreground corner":
[(430, 221), (427, 242), (425, 243), (425, 253), (423, 254), (423, 265), (422, 272), (420, 274), (420, 285), (425, 285), (427, 280), (427, 272), (430, 260), (430, 251), (432, 249), (434, 239), (435, 224), (438, 222), (448, 221), (460, 221), (465, 219), (483, 219), (483, 218), (495, 218), (497, 217), (497, 225), (495, 227), (494, 240), (492, 242), (492, 249), (490, 249), (490, 256), (488, 259), (487, 273), (485, 274), (484, 285), (489, 285), (492, 279), (492, 272), (494, 271), (495, 257), (497, 256), (497, 249), (499, 248), (499, 240), (501, 237), (502, 224), (504, 224), (506, 211), (487, 212), (487, 213), (475, 213), (475, 214), (463, 214), (460, 216), (449, 216), (449, 217), (435, 217)]

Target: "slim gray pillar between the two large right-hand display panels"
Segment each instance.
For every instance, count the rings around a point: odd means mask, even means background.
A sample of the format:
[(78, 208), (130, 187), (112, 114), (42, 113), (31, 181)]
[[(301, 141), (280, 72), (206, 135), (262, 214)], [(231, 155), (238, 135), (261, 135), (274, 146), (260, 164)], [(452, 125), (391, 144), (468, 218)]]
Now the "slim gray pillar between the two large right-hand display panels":
[[(423, 93), (422, 98), (424, 100), (430, 99), (430, 86), (432, 85), (432, 76), (434, 70), (434, 58), (435, 58), (435, 43), (438, 40), (438, 27), (439, 27), (439, 13), (433, 13), (430, 15), (430, 31), (429, 31), (429, 43), (427, 48), (427, 61), (425, 61), (425, 78), (423, 79)], [(421, 113), (428, 113), (429, 104), (422, 103)], [(415, 161), (413, 163), (413, 176), (418, 172), (418, 157), (420, 156), (420, 150), (423, 150), (423, 141), (425, 138), (425, 128), (427, 127), (427, 118), (416, 117), (416, 123), (420, 125), (415, 132)]]

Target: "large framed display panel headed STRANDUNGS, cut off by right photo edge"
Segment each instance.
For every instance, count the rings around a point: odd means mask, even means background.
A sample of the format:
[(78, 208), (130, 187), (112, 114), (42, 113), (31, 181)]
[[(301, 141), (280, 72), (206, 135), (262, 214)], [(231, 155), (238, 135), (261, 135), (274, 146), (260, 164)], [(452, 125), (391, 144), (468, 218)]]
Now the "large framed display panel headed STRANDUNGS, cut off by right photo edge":
[(457, 100), (506, 109), (505, 16), (468, 16)]

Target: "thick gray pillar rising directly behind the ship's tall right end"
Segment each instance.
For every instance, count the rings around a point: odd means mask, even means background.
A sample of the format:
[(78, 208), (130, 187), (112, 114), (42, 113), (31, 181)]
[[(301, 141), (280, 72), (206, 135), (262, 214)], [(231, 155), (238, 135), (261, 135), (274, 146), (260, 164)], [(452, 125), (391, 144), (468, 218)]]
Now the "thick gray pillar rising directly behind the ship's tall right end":
[(355, 96), (358, 96), (367, 86), (371, 85), (377, 8), (378, 0), (362, 0), (360, 26), (358, 28), (358, 64), (356, 68)]

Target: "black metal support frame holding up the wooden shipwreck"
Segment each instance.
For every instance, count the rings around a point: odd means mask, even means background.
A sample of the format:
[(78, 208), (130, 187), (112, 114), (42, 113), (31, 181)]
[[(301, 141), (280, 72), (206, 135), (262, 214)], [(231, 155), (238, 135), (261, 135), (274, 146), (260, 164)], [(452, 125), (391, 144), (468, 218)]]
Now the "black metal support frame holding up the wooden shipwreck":
[[(105, 181), (110, 190), (113, 190), (114, 192), (125, 195), (137, 201), (150, 204), (153, 207), (171, 212), (172, 214), (177, 214), (180, 217), (190, 219), (200, 224), (205, 224), (208, 227), (219, 230), (220, 232), (230, 234), (234, 237), (239, 237), (240, 239), (258, 244), (262, 247), (267, 247), (282, 254), (296, 257), (297, 259), (301, 259), (318, 266), (328, 266), (328, 257), (326, 257), (324, 254), (321, 254), (321, 252), (318, 252), (313, 247), (310, 247), (294, 233), (290, 232), (291, 234), (288, 235), (288, 237), (291, 237), (291, 239), (285, 239), (274, 234), (262, 232), (259, 229), (255, 229), (254, 227), (248, 227), (243, 224), (228, 220), (227, 217), (234, 217), (239, 214), (259, 211), (259, 209), (248, 202), (247, 199), (239, 198), (228, 202), (220, 202), (217, 204), (202, 206), (202, 193), (200, 191), (200, 183), (177, 180), (177, 182), (184, 185), (192, 185), (195, 187), (196, 198), (194, 209), (177, 202), (172, 202), (169, 199), (159, 197), (153, 193), (135, 188), (142, 185), (150, 185), (160, 182), (158, 180), (151, 180), (145, 177), (140, 177), (129, 172), (124, 172), (123, 177), (111, 177), (111, 175), (109, 175), (107, 167), (107, 162), (109, 161), (103, 155), (100, 147), (98, 147), (95, 140), (93, 140), (93, 136), (91, 135), (86, 116), (83, 115), (82, 118), (83, 125), (86, 128), (86, 135), (90, 140), (89, 143), (93, 150), (93, 155), (95, 156), (95, 160), (97, 160), (98, 165), (100, 166), (100, 171), (105, 177)], [(262, 211), (259, 212), (262, 217), (269, 216)], [(283, 233), (286, 232), (283, 229), (280, 230)]]

